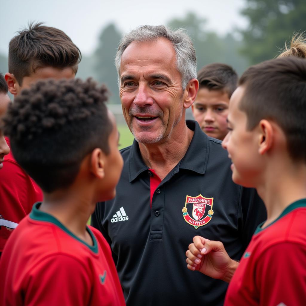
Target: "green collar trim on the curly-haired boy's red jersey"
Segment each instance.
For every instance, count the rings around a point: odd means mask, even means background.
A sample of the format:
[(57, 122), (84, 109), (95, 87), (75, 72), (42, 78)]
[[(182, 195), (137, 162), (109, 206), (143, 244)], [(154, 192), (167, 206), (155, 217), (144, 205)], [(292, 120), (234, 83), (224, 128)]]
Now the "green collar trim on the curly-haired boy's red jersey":
[(97, 240), (94, 236), (94, 234), (91, 232), (90, 228), (86, 226), (86, 230), (88, 231), (92, 241), (93, 245), (87, 244), (85, 241), (81, 240), (80, 238), (76, 237), (72, 232), (70, 232), (61, 222), (58, 221), (58, 219), (54, 218), (53, 216), (47, 214), (46, 212), (39, 211), (39, 206), (41, 202), (37, 202), (33, 205), (32, 211), (30, 213), (30, 218), (37, 221), (44, 221), (44, 222), (50, 222), (58, 226), (60, 229), (62, 229), (64, 232), (66, 232), (68, 235), (70, 235), (72, 238), (76, 239), (80, 243), (83, 243), (86, 245), (92, 252), (95, 254), (98, 254), (98, 244)]

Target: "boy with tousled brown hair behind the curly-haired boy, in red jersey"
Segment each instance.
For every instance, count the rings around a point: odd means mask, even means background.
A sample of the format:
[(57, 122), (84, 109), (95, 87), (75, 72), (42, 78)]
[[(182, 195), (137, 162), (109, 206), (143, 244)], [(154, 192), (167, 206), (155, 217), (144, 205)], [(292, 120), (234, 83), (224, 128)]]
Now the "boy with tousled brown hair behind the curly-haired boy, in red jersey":
[[(39, 79), (74, 78), (81, 53), (61, 30), (42, 23), (29, 24), (9, 43), (9, 72), (5, 74), (8, 89), (16, 97)], [(8, 145), (9, 138), (6, 137)], [(10, 153), (0, 173), (0, 214), (11, 227), (0, 227), (0, 255), (11, 231), (41, 201), (43, 194), (31, 177)]]

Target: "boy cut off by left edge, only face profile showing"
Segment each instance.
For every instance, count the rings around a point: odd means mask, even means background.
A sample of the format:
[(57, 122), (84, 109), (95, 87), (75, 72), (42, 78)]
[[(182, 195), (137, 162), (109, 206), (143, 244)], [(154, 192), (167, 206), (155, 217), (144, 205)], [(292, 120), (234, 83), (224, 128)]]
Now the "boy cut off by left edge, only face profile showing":
[[(9, 96), (7, 94), (7, 84), (0, 73), (0, 169), (3, 167), (4, 156), (9, 154), (9, 146), (6, 143), (6, 140), (2, 131), (2, 117), (6, 112), (7, 106), (11, 103)], [(6, 222), (3, 221), (3, 217), (0, 211), (0, 227), (5, 226)]]

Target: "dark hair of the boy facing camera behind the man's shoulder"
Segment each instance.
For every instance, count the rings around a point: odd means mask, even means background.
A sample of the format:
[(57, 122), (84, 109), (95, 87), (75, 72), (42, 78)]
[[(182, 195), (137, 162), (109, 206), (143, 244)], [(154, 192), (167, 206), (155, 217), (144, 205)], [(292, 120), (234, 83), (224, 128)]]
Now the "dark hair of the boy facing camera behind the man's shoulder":
[(238, 76), (229, 65), (212, 63), (204, 66), (198, 72), (199, 89), (224, 91), (229, 98), (237, 88)]

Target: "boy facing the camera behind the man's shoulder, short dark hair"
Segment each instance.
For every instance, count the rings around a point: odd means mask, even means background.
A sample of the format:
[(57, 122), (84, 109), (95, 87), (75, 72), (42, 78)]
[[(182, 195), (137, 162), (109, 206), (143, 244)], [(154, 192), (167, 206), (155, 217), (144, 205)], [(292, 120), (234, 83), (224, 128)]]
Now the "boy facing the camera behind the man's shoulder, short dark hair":
[(222, 63), (204, 66), (198, 72), (199, 91), (192, 104), (192, 114), (208, 136), (223, 140), (226, 136), (230, 97), (237, 87), (238, 76)]

